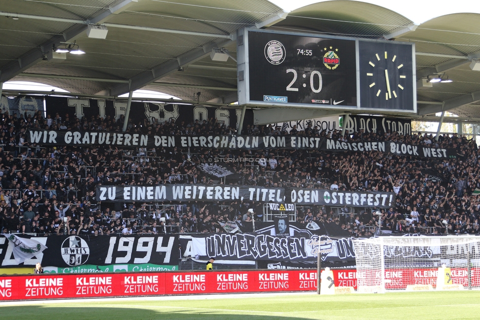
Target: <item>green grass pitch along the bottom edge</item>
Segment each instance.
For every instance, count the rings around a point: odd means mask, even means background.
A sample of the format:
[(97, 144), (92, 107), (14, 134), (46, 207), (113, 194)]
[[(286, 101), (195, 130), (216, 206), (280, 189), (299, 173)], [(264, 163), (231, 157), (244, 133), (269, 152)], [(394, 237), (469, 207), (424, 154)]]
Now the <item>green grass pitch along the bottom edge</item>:
[[(216, 295), (215, 297), (218, 297)], [(175, 299), (175, 298), (173, 298)], [(480, 291), (268, 296), (204, 295), (188, 300), (102, 299), (58, 303), (0, 303), (2, 320), (412, 320), (480, 319)]]

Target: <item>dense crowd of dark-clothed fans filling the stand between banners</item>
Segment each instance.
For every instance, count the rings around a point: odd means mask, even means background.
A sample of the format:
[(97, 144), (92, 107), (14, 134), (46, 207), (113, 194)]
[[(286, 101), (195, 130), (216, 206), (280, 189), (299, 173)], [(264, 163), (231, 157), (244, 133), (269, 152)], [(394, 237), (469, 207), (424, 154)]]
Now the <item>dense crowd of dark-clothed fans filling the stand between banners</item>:
[[(456, 158), (400, 157), (378, 151), (215, 150), (159, 147), (43, 147), (30, 145), (27, 130), (120, 131), (124, 118), (46, 119), (0, 115), (0, 226), (2, 233), (157, 234), (225, 232), (225, 224), (249, 224), (263, 214), (261, 203), (162, 202), (106, 203), (95, 197), (97, 184), (240, 184), (269, 187), (322, 188), (395, 192), (390, 208), (299, 207), (297, 223), (338, 224), (353, 236), (375, 232), (480, 234), (480, 152), (466, 137), (402, 135), (387, 131), (322, 131), (247, 126), (242, 134), (307, 135), (341, 141), (394, 141), (453, 149)], [(233, 134), (216, 119), (185, 124), (174, 121), (138, 124), (127, 130), (146, 134)], [(251, 159), (254, 159), (253, 161)], [(215, 179), (200, 170), (203, 163), (227, 165), (232, 175)], [(249, 208), (256, 216), (247, 214)], [(372, 213), (373, 212), (373, 213)]]

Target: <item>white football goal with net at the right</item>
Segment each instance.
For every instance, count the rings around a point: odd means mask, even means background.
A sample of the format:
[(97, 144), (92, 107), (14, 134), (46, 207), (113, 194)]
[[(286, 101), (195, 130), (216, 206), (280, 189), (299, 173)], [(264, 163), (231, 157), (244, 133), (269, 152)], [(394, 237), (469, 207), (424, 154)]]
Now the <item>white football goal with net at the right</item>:
[(358, 292), (480, 288), (480, 237), (353, 240)]

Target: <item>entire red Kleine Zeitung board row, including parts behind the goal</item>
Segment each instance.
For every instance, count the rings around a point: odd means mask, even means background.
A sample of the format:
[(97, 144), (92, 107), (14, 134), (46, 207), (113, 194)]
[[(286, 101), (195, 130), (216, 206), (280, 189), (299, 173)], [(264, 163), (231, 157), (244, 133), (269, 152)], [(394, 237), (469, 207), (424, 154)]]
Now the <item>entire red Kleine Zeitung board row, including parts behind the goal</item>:
[[(335, 287), (357, 289), (355, 269), (332, 270)], [(472, 268), (471, 286), (480, 287), (480, 269)], [(438, 270), (387, 269), (385, 288), (436, 286)], [(451, 268), (452, 284), (468, 286), (468, 270)], [(86, 298), (109, 296), (175, 295), (199, 293), (313, 291), (317, 271), (204, 271), (1, 276), (0, 300)]]

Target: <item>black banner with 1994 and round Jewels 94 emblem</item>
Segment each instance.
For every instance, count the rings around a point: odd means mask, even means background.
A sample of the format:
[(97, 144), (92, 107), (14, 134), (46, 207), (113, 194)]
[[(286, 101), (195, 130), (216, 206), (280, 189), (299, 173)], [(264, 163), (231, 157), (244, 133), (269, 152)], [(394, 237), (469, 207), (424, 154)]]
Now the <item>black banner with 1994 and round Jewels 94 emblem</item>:
[[(45, 245), (41, 254), (20, 264), (40, 262), (43, 266), (59, 268), (81, 265), (154, 264), (178, 265), (180, 241), (174, 235), (151, 236), (49, 236), (30, 237)], [(1, 267), (19, 265), (13, 254), (14, 244), (0, 238)]]

